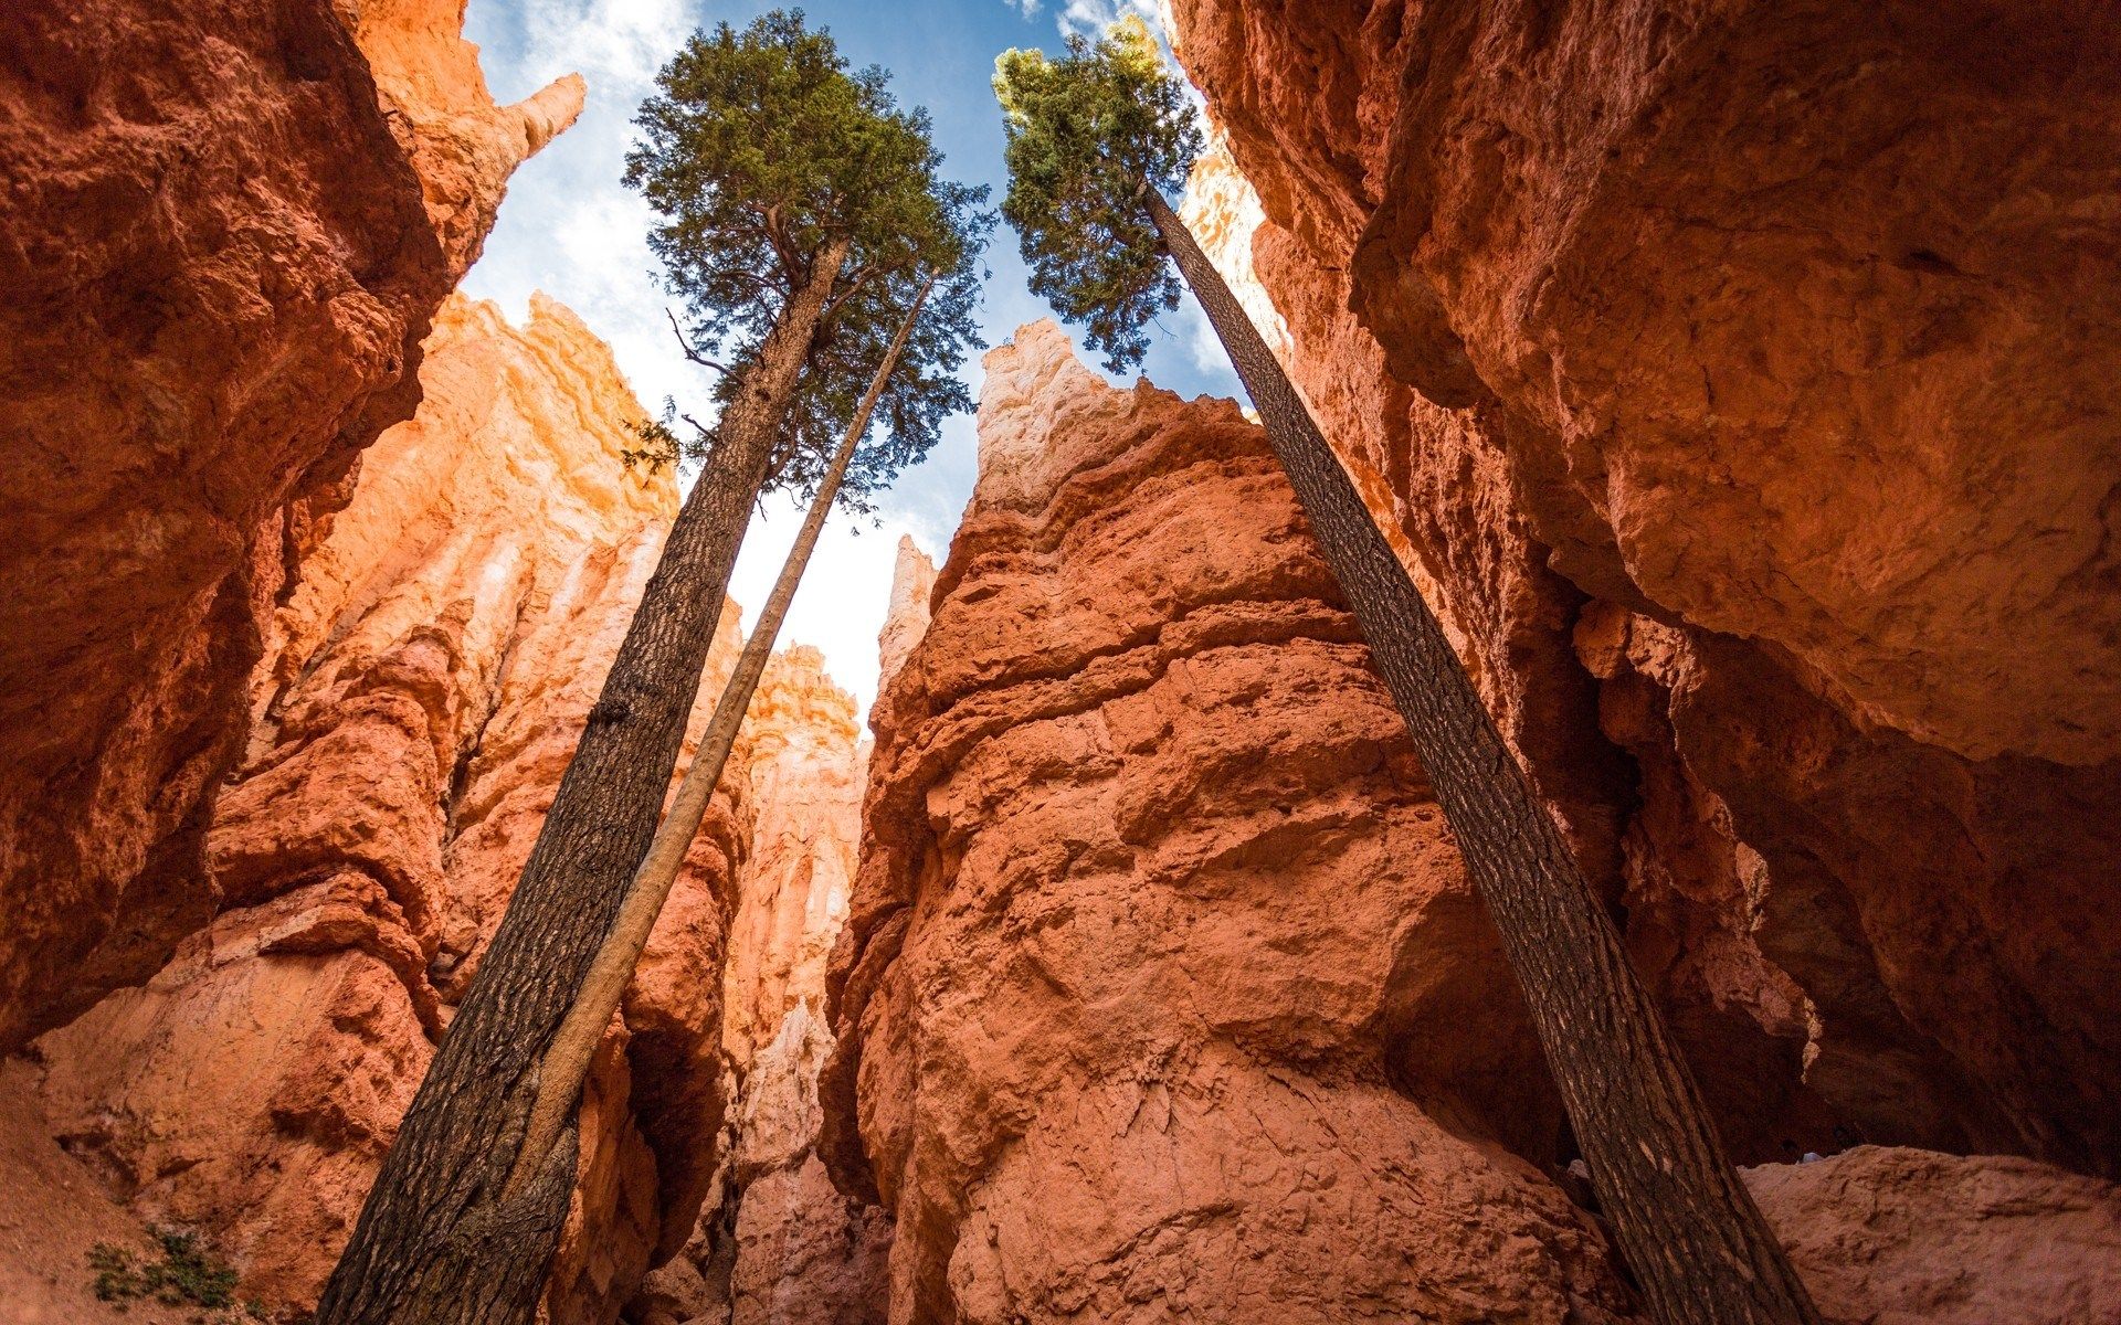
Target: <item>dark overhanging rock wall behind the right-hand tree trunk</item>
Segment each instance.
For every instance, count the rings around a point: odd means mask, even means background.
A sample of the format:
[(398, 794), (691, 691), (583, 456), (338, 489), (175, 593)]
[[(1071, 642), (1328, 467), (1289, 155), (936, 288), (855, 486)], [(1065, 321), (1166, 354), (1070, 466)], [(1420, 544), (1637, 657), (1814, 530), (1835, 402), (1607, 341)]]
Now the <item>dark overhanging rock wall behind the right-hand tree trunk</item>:
[(1192, 214), (1733, 1149), (2121, 1168), (2113, 23), (1173, 11)]

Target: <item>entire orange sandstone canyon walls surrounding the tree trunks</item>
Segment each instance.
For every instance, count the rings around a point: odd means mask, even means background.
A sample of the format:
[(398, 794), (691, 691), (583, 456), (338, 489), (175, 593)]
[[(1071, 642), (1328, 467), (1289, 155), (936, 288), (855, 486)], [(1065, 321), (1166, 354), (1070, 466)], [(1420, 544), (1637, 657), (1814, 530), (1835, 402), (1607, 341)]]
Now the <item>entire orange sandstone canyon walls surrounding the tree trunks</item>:
[[(1824, 1314), (2110, 1321), (2121, 30), (1171, 11), (1186, 218)], [(174, 1325), (89, 1293), (142, 1221), (314, 1302), (677, 507), (573, 314), (448, 295), (581, 104), (460, 21), (0, 8), (4, 1325)], [(556, 1325), (1637, 1319), (1237, 405), (1022, 329), (878, 644), (874, 748), (814, 651), (761, 685)]]

